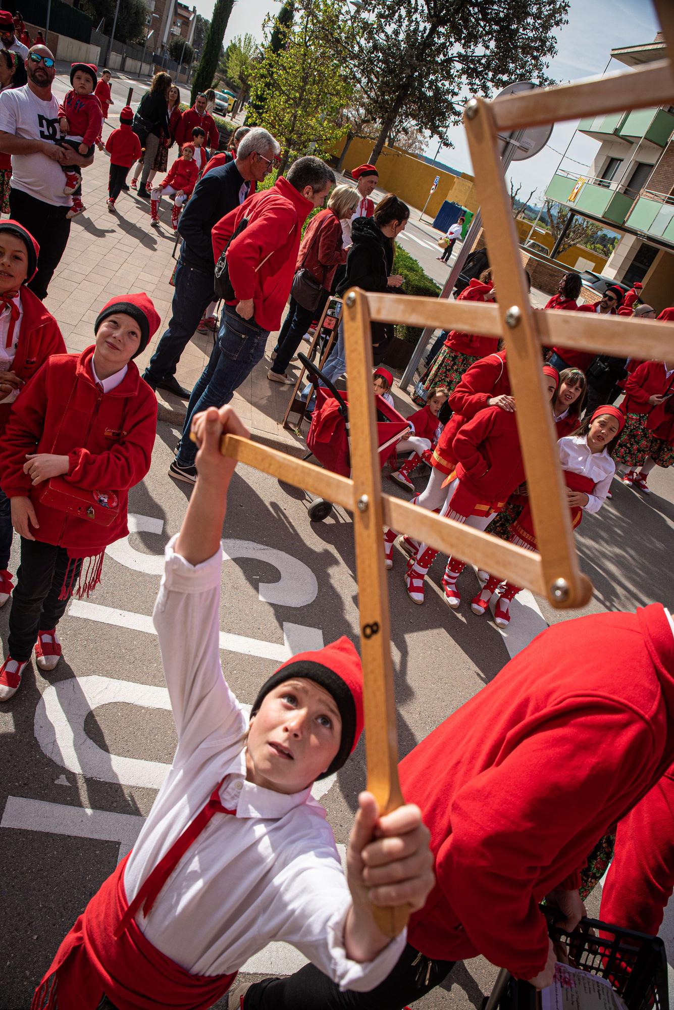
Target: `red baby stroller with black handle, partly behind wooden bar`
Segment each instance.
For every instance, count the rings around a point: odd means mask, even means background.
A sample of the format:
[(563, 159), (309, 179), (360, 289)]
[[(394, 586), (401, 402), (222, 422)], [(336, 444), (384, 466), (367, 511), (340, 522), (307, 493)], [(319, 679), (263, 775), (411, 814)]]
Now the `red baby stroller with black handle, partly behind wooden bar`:
[[(325, 386), (319, 386), (316, 390), (316, 407), (307, 434), (307, 447), (310, 451), (305, 459), (314, 456), (326, 470), (341, 474), (342, 477), (349, 477), (351, 461), (348, 401), (306, 355), (300, 354), (298, 358), (312, 377), (314, 384), (317, 384), (319, 379), (325, 383)], [(396, 445), (401, 438), (409, 433), (410, 425), (380, 396), (376, 397), (376, 431), (379, 466), (383, 467), (386, 460), (396, 451)], [(324, 498), (312, 498), (308, 509), (312, 522), (322, 522), (331, 511), (332, 503)]]

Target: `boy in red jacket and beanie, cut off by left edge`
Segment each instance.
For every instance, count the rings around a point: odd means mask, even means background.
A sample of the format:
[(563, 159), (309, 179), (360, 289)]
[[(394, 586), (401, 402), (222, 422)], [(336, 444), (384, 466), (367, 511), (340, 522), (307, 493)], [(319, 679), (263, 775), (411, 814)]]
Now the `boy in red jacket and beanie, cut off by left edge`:
[[(65, 355), (59, 323), (26, 284), (37, 271), (39, 245), (18, 221), (0, 221), (0, 438), (12, 404), (50, 355)], [(11, 596), (12, 520), (0, 490), (0, 607)]]

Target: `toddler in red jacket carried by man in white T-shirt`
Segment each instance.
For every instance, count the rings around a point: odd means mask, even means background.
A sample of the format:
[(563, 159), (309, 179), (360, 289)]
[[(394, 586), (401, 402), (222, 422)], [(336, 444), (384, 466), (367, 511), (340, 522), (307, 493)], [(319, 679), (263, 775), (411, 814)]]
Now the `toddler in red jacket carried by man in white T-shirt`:
[[(60, 142), (90, 158), (103, 126), (101, 103), (93, 93), (97, 84), (94, 64), (73, 64), (71, 84), (73, 87), (59, 106)], [(82, 169), (79, 165), (63, 165), (62, 168), (66, 173), (64, 193), (73, 195), (73, 206), (66, 216), (76, 217), (87, 209), (82, 202)]]

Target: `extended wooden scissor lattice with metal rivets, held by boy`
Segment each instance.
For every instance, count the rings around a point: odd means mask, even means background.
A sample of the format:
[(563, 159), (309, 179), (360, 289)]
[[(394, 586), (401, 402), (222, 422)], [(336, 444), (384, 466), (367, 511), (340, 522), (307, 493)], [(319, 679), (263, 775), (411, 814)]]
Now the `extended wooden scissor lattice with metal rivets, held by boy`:
[[(641, 359), (671, 355), (671, 327), (575, 312), (535, 312), (529, 302), (511, 201), (498, 157), (498, 131), (674, 103), (674, 6), (656, 0), (671, 60), (643, 70), (578, 84), (497, 98), (473, 99), (465, 110), (475, 187), (482, 209), (498, 304), (435, 298), (347, 293), (344, 337), (351, 428), (351, 479), (321, 470), (275, 449), (233, 435), (224, 454), (304, 488), (353, 513), (365, 671), (367, 788), (382, 811), (403, 802), (398, 779), (396, 698), (390, 656), (388, 595), (382, 526), (391, 526), (447, 554), (469, 561), (547, 596), (557, 607), (579, 607), (591, 595), (580, 574), (566, 504), (550, 405), (544, 398), (541, 346), (564, 346)], [(511, 386), (518, 405), (529, 495), (539, 552), (524, 550), (487, 533), (459, 525), (381, 493), (372, 396), (371, 322), (458, 329), (502, 336)], [(400, 931), (407, 909), (375, 910), (389, 935)]]

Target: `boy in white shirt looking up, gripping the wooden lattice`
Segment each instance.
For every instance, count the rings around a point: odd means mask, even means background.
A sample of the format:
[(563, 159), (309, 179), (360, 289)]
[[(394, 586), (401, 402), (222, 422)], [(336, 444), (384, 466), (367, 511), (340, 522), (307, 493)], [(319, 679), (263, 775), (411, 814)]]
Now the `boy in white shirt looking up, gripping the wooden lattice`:
[(178, 749), (133, 850), (62, 943), (33, 1010), (52, 1006), (50, 983), (64, 1010), (96, 1010), (104, 995), (119, 1008), (210, 1007), (271, 940), (293, 943), (341, 988), (367, 990), (405, 947), (405, 931), (379, 931), (372, 904), (419, 909), (433, 885), (414, 807), (379, 817), (360, 795), (345, 880), (312, 799), (362, 728), (362, 668), (347, 638), (285, 663), (249, 717), (228, 687), (220, 537), (235, 464), (220, 437), (248, 432), (230, 407), (197, 414), (192, 430), (199, 477), (154, 607)]

